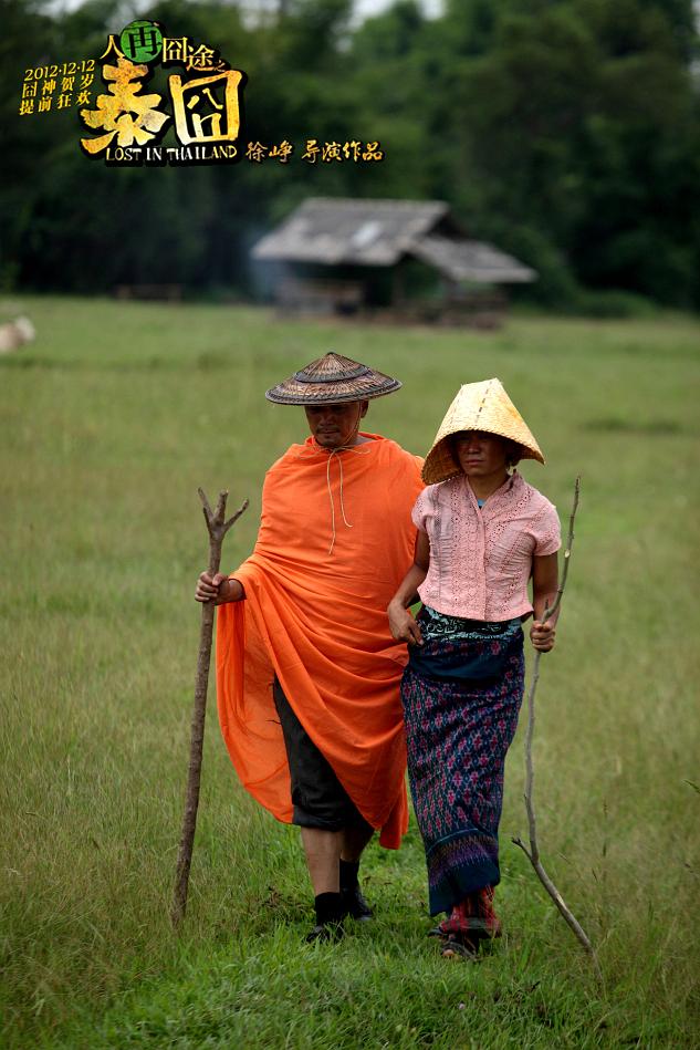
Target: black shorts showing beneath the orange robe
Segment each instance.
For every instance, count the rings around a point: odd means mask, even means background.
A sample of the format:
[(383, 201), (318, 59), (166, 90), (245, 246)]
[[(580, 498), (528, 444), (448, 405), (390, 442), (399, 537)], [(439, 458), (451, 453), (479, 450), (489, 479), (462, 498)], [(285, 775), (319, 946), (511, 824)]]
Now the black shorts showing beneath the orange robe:
[(294, 807), (292, 823), (323, 831), (342, 831), (351, 825), (369, 828), (292, 710), (276, 677), (272, 696), (280, 716), (290, 766)]

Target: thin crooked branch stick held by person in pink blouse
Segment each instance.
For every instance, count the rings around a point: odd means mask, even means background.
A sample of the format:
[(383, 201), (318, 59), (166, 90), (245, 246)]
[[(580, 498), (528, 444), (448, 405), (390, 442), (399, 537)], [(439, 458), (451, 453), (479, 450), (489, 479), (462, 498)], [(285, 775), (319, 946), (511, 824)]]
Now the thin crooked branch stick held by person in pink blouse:
[[(576, 518), (576, 510), (578, 508), (578, 493), (581, 491), (581, 478), (576, 478), (576, 485), (574, 487), (574, 503), (572, 507), (571, 517), (568, 519), (568, 536), (566, 538), (566, 549), (564, 551), (564, 568), (562, 570), (562, 579), (560, 585), (556, 590), (556, 597), (552, 609), (545, 609), (542, 621), (545, 623), (554, 613), (557, 612), (561, 603), (562, 595), (564, 594), (564, 588), (566, 586), (566, 576), (568, 575), (568, 563), (571, 561), (572, 545), (574, 542), (574, 521)], [(565, 903), (562, 894), (558, 892), (550, 876), (547, 875), (542, 861), (540, 860), (540, 845), (537, 843), (537, 821), (535, 818), (535, 809), (533, 801), (533, 789), (534, 789), (534, 763), (532, 758), (532, 741), (535, 730), (535, 690), (537, 688), (537, 682), (540, 680), (540, 658), (542, 653), (537, 649), (534, 658), (534, 666), (532, 672), (532, 682), (530, 684), (530, 692), (527, 694), (527, 731), (525, 734), (525, 810), (527, 812), (527, 824), (529, 824), (529, 835), (530, 835), (530, 849), (520, 838), (514, 838), (512, 841), (515, 845), (520, 846), (532, 866), (534, 867), (540, 882), (550, 894), (554, 904), (558, 908), (560, 914), (564, 917), (566, 923), (568, 923), (571, 929), (574, 932), (577, 939), (581, 942), (585, 950), (591, 956), (596, 976), (598, 980), (603, 979), (603, 974), (600, 971), (600, 965), (598, 963), (595, 948), (591, 944), (591, 939), (583, 929), (581, 923), (577, 921), (576, 916), (573, 914), (568, 905)]]

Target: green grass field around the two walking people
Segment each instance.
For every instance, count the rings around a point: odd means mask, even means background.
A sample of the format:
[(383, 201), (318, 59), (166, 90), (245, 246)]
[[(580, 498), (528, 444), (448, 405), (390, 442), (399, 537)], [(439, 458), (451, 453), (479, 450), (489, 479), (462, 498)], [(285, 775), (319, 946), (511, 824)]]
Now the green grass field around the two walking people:
[[(492, 334), (282, 323), (263, 311), (0, 302), (34, 344), (0, 358), (3, 1047), (535, 1048), (700, 1044), (700, 324), (513, 318)], [(251, 509), (304, 435), (264, 389), (327, 350), (405, 383), (369, 429), (425, 453), (458, 385), (498, 375), (582, 505), (535, 745), (545, 864), (605, 984), (541, 892), (522, 731), (499, 909), (478, 965), (440, 959), (420, 839), (373, 844), (370, 929), (302, 946), (294, 829), (238, 786), (211, 703), (187, 922), (168, 906), (206, 564), (197, 498)]]

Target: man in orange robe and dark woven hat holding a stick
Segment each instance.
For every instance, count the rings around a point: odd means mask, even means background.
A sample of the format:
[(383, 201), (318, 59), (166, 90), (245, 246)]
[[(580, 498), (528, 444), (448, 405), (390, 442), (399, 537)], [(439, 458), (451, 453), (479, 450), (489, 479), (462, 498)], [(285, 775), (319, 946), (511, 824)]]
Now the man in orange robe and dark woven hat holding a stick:
[(252, 555), (202, 573), (221, 605), (219, 719), (248, 791), (301, 827), (315, 894), (310, 939), (372, 915), (359, 857), (375, 829), (397, 849), (408, 827), (399, 682), (406, 647), (386, 606), (412, 562), (419, 458), (359, 430), (368, 401), (400, 383), (326, 354), (268, 391), (303, 405), (311, 429), (265, 477)]

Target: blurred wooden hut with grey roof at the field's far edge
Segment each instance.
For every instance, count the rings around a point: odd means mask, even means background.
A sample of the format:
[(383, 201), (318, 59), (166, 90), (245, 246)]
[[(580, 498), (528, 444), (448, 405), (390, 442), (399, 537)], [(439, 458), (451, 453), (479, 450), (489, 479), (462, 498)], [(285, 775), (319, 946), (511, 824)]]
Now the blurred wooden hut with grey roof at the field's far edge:
[[(311, 197), (258, 241), (252, 258), (268, 268), (284, 311), (384, 308), (441, 323), (498, 323), (505, 287), (537, 278), (493, 245), (469, 239), (441, 200)], [(416, 294), (420, 267), (432, 279), (431, 295)]]

